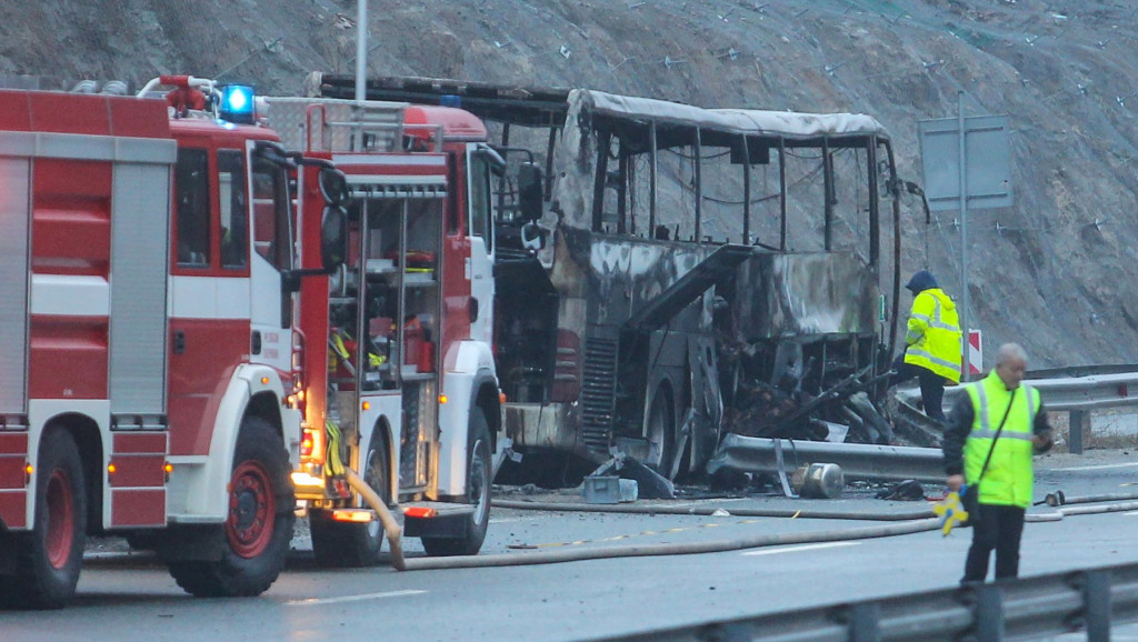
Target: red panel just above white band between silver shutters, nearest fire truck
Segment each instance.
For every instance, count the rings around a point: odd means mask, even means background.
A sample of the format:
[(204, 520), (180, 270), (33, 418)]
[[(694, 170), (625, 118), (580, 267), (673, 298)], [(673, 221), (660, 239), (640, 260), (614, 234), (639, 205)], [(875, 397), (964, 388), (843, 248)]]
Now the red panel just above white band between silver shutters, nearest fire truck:
[(40, 158), (33, 168), (32, 270), (106, 277), (112, 164)]

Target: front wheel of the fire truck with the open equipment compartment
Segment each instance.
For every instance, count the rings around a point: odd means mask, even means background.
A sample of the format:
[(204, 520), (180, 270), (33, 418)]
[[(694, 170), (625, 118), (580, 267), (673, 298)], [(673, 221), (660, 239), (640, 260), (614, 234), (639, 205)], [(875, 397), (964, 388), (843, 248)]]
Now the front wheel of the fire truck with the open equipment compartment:
[(486, 527), (490, 521), (490, 429), (486, 417), (475, 412), (470, 418), (467, 437), (469, 460), (467, 464), (467, 503), (475, 504), (465, 537), (423, 537), (423, 549), (428, 555), (477, 555), (486, 540)]

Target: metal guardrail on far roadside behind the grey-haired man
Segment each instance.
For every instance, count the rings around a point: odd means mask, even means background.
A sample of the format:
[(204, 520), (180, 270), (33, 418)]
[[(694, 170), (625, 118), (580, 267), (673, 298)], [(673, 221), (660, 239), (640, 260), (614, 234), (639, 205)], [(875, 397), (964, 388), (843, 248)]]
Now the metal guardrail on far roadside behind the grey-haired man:
[[(1030, 377), (1050, 373), (1094, 372), (1080, 377), (1056, 377), (1049, 379), (1028, 380), (1028, 384), (1039, 390), (1044, 405), (1049, 411), (1067, 411), (1071, 419), (1071, 431), (1067, 442), (1069, 450), (1082, 454), (1082, 438), (1090, 430), (1090, 412), (1104, 408), (1138, 405), (1138, 372), (1113, 372), (1115, 368), (1132, 365), (1087, 365), (1078, 368), (1055, 369), (1030, 373)], [(945, 403), (951, 405), (957, 395), (964, 394), (964, 388), (953, 387), (945, 390)], [(915, 405), (921, 398), (917, 390), (900, 390), (897, 393), (905, 403)]]

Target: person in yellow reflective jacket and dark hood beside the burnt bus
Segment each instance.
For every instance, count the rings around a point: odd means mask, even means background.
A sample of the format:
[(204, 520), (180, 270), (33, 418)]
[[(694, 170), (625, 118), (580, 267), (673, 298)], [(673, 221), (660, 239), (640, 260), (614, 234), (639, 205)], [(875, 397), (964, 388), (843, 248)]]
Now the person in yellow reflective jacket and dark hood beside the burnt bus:
[(894, 374), (889, 385), (916, 377), (925, 414), (945, 421), (945, 381), (960, 380), (960, 321), (956, 303), (937, 286), (937, 279), (927, 270), (914, 274), (905, 288), (913, 293), (913, 308), (905, 332), (905, 353), (893, 362)]

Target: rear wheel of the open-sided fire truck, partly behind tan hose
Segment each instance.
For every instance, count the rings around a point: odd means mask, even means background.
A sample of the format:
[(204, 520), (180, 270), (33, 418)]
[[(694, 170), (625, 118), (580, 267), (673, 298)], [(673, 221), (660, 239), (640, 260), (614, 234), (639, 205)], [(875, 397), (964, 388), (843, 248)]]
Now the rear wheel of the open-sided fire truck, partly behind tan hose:
[[(372, 487), (384, 503), (391, 504), (390, 463), (387, 441), (377, 430), (371, 436), (371, 447), (364, 460), (363, 479)], [(366, 507), (361, 500), (361, 507)], [(362, 568), (379, 563), (379, 552), (384, 548), (384, 525), (379, 519), (369, 524), (333, 521), (328, 511), (310, 513), (312, 552), (316, 565), (322, 567)]]

